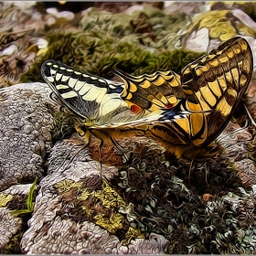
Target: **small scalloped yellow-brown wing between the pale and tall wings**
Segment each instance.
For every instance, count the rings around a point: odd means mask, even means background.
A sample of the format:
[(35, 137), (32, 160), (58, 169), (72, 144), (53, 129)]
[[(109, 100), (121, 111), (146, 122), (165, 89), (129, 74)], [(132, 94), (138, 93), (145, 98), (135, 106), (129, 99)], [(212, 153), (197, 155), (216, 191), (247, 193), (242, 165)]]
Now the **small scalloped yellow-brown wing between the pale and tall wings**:
[(171, 70), (138, 77), (119, 69), (114, 71), (124, 82), (122, 98), (130, 105), (154, 112), (161, 108), (174, 108), (180, 99), (185, 99), (180, 76)]

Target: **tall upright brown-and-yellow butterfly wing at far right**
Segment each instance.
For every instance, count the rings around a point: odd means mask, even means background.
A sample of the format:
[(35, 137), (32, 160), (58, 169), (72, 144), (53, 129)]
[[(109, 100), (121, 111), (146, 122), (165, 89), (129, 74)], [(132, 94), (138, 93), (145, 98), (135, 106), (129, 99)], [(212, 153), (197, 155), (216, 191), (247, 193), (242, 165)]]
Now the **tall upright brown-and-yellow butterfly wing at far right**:
[(186, 109), (215, 110), (189, 115), (192, 144), (210, 144), (225, 129), (249, 86), (252, 70), (251, 47), (242, 37), (230, 38), (183, 69)]

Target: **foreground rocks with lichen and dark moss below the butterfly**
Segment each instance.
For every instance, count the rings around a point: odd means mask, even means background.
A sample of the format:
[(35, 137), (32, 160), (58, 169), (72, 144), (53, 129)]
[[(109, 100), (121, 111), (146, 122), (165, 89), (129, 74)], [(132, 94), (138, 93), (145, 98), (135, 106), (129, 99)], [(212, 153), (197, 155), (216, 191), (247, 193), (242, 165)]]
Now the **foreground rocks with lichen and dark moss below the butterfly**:
[[(219, 153), (193, 165), (165, 155), (165, 149), (150, 139), (126, 138), (120, 144), (127, 153), (133, 151), (132, 163), (123, 165), (120, 154), (105, 144), (101, 168), (97, 141), (84, 148), (69, 129), (63, 137), (70, 113), (64, 110), (59, 124), (60, 105), (49, 100), (49, 92), (43, 83), (1, 91), (2, 140), (5, 148), (12, 148), (1, 162), (1, 253), (223, 252), (229, 229), (234, 240), (229, 252), (254, 251), (246, 242), (254, 237), (254, 215), (242, 210), (251, 208), (256, 198), (250, 133), (231, 135), (239, 126), (230, 123), (219, 137)], [(56, 133), (59, 129), (63, 133)], [(26, 208), (31, 187), (27, 183), (36, 177), (32, 217), (27, 221), (12, 215), (13, 210)], [(220, 221), (223, 214), (225, 224)], [(206, 229), (211, 233), (207, 235)], [(244, 243), (239, 248), (240, 240)]]

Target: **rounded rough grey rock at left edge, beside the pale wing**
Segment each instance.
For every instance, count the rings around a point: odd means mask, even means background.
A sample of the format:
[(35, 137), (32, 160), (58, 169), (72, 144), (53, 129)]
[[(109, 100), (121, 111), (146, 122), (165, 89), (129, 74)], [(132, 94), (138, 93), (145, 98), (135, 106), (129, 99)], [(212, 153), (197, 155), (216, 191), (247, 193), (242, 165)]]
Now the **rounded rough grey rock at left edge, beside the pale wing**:
[(52, 145), (54, 105), (40, 83), (0, 91), (0, 190), (32, 182), (44, 172), (43, 161)]

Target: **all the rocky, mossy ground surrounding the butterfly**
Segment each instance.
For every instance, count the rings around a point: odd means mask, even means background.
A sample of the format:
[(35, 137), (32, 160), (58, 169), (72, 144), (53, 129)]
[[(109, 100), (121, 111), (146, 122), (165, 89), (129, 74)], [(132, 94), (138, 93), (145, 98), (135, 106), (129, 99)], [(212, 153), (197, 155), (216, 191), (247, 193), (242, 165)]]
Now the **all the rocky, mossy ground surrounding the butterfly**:
[[(255, 4), (0, 5), (0, 253), (256, 251), (255, 128), (238, 132), (242, 105), (213, 158), (177, 161), (152, 140), (124, 138), (131, 163), (104, 144), (101, 181), (97, 140), (83, 148), (39, 72), (57, 59), (116, 80), (113, 67), (178, 72), (236, 35), (255, 49)], [(244, 100), (255, 117), (255, 80)]]

